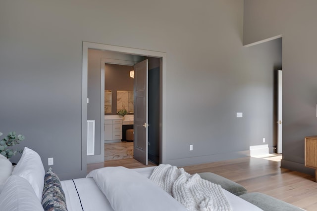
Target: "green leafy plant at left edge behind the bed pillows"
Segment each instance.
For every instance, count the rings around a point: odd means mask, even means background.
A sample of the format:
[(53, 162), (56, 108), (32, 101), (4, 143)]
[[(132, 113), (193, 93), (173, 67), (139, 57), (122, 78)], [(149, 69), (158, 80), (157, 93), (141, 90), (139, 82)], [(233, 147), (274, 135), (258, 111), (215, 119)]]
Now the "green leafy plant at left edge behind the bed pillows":
[[(0, 132), (0, 136), (1, 135), (2, 133)], [(19, 144), (20, 141), (24, 140), (24, 138), (24, 135), (16, 135), (14, 131), (9, 132), (7, 136), (0, 140), (0, 154), (9, 159), (17, 152), (22, 153), (23, 150), (13, 150), (10, 149), (10, 147)]]

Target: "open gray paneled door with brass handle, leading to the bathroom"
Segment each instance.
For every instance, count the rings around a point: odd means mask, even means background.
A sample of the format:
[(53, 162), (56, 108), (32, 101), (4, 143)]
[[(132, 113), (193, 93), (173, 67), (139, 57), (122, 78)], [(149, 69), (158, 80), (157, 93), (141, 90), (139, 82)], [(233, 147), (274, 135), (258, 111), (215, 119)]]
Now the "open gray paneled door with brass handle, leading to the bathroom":
[(134, 159), (148, 165), (148, 60), (134, 65)]

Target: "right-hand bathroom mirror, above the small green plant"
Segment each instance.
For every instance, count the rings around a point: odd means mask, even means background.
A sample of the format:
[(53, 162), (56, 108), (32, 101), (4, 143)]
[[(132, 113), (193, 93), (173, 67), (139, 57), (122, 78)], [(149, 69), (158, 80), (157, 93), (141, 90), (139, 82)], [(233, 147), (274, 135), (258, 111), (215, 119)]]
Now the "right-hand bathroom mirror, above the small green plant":
[(121, 109), (127, 110), (128, 114), (134, 113), (133, 105), (133, 91), (117, 91), (117, 109), (116, 112)]

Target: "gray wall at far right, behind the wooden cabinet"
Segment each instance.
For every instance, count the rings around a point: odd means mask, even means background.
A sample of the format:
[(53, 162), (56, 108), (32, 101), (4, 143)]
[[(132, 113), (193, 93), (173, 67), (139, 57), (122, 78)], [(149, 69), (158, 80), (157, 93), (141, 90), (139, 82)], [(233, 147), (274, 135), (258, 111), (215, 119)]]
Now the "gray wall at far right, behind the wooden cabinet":
[(283, 160), (304, 167), (304, 138), (316, 135), (317, 1), (245, 0), (244, 44), (283, 37)]

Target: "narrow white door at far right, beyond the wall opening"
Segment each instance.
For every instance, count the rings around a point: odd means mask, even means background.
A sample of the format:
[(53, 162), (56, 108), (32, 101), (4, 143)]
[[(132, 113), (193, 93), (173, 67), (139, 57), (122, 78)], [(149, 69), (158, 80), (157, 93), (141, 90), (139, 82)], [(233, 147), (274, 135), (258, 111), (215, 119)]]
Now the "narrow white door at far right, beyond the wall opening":
[(282, 153), (282, 71), (277, 75), (277, 153)]

